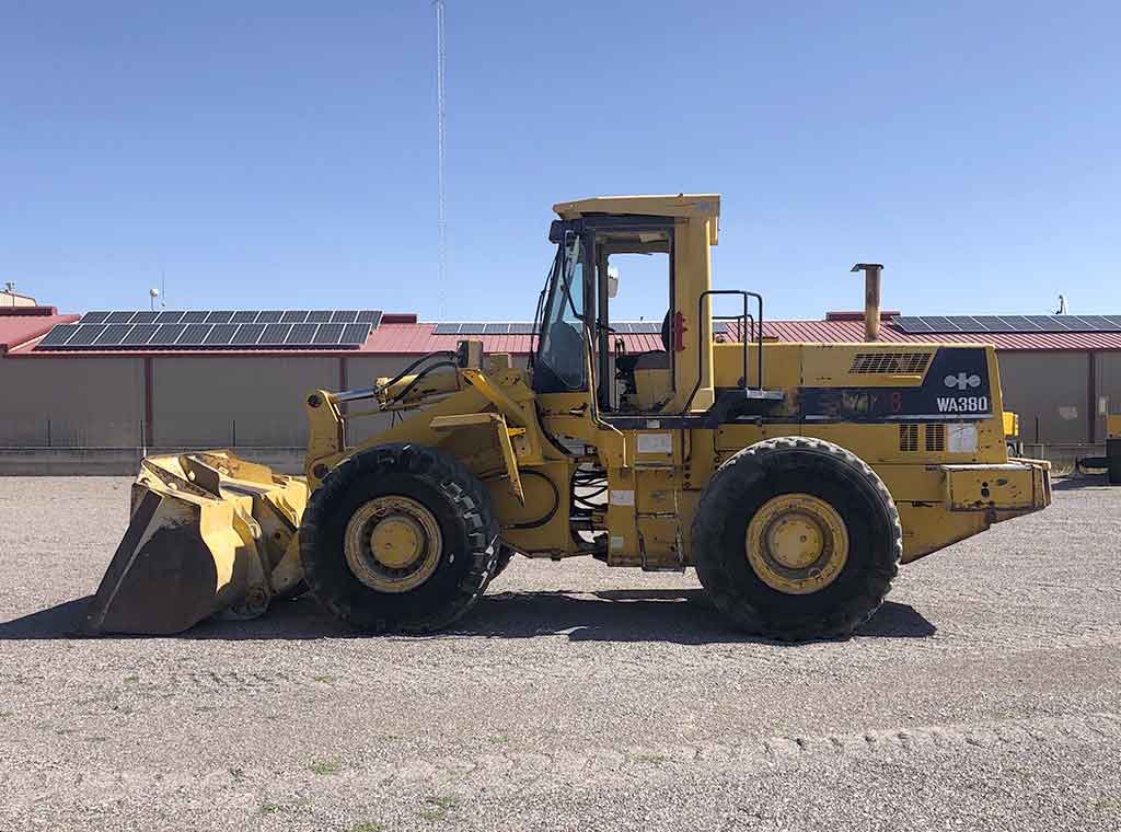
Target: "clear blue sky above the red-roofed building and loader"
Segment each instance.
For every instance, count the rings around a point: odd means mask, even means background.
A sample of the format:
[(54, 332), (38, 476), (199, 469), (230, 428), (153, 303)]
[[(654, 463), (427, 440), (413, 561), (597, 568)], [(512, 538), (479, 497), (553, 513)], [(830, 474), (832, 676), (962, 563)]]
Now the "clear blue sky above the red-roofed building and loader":
[(554, 202), (685, 191), (771, 316), (859, 308), (859, 260), (910, 314), (1121, 314), (1115, 2), (447, 0), (443, 290), (427, 0), (0, 21), (0, 279), (66, 309), (166, 269), (175, 308), (526, 318)]

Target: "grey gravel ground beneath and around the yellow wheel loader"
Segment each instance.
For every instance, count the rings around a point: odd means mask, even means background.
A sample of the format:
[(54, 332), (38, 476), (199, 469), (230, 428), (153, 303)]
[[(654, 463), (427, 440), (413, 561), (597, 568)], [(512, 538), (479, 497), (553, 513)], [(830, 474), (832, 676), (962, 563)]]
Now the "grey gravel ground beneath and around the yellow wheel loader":
[(129, 480), (0, 479), (0, 828), (1118, 830), (1121, 488), (904, 567), (847, 641), (516, 561), (454, 632), (314, 602), (71, 636)]

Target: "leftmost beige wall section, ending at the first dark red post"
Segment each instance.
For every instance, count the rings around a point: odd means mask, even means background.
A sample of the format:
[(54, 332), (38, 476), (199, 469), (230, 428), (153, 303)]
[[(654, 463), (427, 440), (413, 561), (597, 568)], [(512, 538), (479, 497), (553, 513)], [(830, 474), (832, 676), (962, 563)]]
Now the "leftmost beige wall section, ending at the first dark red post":
[(138, 447), (139, 358), (0, 360), (0, 446)]

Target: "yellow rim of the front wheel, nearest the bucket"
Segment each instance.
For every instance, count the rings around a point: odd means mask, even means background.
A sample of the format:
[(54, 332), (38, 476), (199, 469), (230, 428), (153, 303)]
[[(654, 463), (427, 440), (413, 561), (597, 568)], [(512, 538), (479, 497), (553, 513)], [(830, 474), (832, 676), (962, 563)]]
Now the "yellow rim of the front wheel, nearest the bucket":
[(408, 592), (427, 581), (443, 551), (439, 524), (409, 497), (376, 497), (346, 524), (343, 552), (354, 576), (379, 592)]

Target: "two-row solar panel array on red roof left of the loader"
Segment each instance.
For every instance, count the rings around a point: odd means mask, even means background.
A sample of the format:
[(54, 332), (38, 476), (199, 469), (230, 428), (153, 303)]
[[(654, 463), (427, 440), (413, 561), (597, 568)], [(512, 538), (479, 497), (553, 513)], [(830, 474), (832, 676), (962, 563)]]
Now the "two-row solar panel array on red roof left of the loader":
[(36, 350), (358, 349), (380, 309), (87, 312), (59, 324)]

